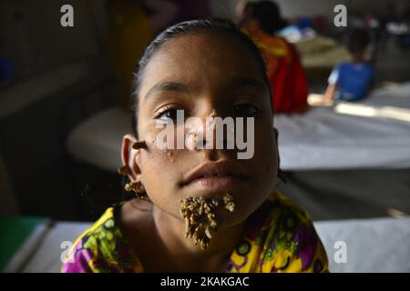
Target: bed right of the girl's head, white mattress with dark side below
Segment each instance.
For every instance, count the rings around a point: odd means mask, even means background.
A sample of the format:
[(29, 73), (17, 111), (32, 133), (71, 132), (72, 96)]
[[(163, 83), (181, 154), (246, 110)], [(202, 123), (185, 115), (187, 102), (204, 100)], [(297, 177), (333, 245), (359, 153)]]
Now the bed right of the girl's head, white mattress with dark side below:
[(410, 83), (275, 118), (283, 191), (315, 219), (410, 213)]

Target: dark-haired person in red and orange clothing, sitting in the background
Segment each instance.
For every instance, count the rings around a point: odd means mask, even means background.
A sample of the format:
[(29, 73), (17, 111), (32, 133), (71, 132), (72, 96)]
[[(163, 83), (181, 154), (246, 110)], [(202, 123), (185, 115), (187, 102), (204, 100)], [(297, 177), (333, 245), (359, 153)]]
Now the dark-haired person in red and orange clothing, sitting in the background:
[(237, 21), (265, 58), (274, 112), (304, 112), (307, 108), (307, 81), (296, 49), (277, 35), (287, 25), (278, 5), (271, 1), (241, 3), (237, 9)]

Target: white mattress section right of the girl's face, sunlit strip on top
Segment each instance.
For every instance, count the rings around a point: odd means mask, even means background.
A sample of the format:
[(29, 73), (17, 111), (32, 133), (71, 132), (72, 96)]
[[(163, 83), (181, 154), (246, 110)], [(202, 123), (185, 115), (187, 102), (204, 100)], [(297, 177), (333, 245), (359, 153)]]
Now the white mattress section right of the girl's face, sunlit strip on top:
[(408, 168), (410, 83), (377, 90), (361, 104), (276, 115), (275, 126), (284, 170)]

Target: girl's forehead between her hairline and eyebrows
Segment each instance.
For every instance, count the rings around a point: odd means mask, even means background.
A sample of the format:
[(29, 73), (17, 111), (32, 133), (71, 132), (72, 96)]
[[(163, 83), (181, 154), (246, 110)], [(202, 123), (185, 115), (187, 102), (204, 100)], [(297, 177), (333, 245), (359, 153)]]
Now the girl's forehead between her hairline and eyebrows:
[(165, 81), (225, 82), (252, 77), (263, 82), (261, 67), (241, 39), (226, 33), (198, 33), (170, 39), (149, 60), (141, 80), (141, 95)]

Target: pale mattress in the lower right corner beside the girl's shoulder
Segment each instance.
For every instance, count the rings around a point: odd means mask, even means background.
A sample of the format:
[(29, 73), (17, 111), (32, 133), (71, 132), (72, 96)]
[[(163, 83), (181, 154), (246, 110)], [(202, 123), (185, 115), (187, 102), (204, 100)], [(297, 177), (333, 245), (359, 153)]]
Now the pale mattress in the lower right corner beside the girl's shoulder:
[[(322, 221), (315, 226), (333, 273), (410, 272), (409, 217)], [(338, 242), (346, 246), (345, 263)]]

